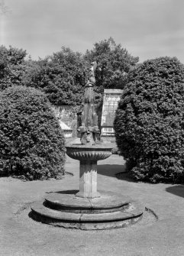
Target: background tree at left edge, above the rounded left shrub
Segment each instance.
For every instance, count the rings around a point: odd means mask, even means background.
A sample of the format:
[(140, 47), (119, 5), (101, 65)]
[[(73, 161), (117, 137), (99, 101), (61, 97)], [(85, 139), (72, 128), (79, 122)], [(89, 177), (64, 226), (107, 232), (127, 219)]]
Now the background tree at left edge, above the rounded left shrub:
[(26, 55), (26, 51), (22, 49), (0, 47), (0, 90), (12, 84), (21, 85)]

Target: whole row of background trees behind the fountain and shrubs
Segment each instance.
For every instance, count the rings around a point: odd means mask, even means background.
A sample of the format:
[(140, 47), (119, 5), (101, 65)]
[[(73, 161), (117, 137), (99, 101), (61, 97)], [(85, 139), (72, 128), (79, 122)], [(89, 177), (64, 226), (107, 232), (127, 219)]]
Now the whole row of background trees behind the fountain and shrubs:
[(96, 102), (103, 89), (123, 89), (128, 73), (138, 61), (121, 44), (108, 40), (94, 44), (85, 54), (62, 47), (44, 59), (26, 59), (25, 50), (0, 47), (0, 89), (11, 85), (32, 86), (45, 92), (53, 105), (80, 105), (86, 73), (92, 60), (98, 62), (95, 73)]

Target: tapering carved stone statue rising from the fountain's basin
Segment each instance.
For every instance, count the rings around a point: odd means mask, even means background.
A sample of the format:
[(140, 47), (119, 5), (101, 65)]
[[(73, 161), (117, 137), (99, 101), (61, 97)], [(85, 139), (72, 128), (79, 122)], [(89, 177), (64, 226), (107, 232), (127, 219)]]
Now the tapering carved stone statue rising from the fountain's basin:
[(95, 144), (99, 134), (98, 116), (95, 112), (93, 87), (95, 85), (96, 61), (92, 61), (84, 93), (84, 105), (81, 115), (81, 125), (78, 128), (81, 134), (81, 144)]

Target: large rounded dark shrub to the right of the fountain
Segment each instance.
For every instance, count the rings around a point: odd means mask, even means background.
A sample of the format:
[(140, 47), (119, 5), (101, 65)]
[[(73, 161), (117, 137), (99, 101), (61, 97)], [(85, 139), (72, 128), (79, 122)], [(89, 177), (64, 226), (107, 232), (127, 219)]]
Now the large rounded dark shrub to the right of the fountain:
[(184, 181), (184, 66), (175, 57), (131, 71), (115, 116), (116, 141), (136, 180)]

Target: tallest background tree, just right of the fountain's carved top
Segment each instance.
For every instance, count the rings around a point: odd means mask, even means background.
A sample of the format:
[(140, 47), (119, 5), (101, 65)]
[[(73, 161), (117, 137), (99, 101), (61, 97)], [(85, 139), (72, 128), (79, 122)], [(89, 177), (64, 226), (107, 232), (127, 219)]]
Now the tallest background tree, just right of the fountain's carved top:
[(138, 61), (138, 57), (132, 57), (121, 44), (115, 44), (112, 37), (95, 43), (92, 50), (86, 51), (84, 59), (98, 63), (95, 86), (98, 98), (103, 89), (123, 89), (128, 83), (129, 71)]

